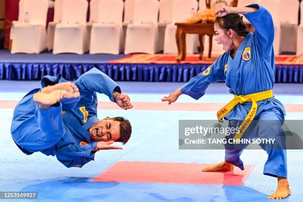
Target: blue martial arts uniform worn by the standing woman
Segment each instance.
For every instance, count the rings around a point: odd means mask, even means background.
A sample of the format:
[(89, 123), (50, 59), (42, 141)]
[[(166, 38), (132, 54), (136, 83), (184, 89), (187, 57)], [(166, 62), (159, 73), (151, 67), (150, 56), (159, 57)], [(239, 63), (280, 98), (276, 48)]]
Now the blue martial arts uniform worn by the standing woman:
[[(198, 100), (205, 94), (210, 83), (225, 81), (229, 92), (235, 95), (249, 95), (268, 91), (273, 88), (275, 56), (273, 50), (274, 25), (269, 11), (258, 4), (258, 10), (245, 14), (252, 23), (255, 32), (249, 32), (241, 42), (234, 58), (230, 52), (225, 52), (204, 72), (192, 78), (181, 88), (183, 94)], [(258, 108), (254, 120), (281, 120), (286, 115), (283, 104), (275, 98), (258, 101)], [(225, 116), (228, 120), (244, 120), (252, 106), (251, 102), (238, 104)], [(259, 129), (259, 136), (266, 132), (281, 132), (277, 125)], [(271, 150), (264, 166), (264, 174), (270, 176), (287, 177), (286, 150)], [(226, 150), (225, 161), (244, 169), (240, 159), (242, 150)]]

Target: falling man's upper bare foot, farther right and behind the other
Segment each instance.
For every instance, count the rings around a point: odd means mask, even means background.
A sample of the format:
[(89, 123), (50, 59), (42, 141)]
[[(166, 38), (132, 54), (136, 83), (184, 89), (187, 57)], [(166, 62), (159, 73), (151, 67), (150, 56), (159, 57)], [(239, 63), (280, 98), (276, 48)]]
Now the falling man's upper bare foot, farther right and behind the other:
[(47, 86), (41, 90), (41, 93), (50, 94), (55, 90), (66, 91), (66, 95), (64, 96), (64, 98), (78, 98), (80, 96), (78, 87), (71, 82), (63, 82), (52, 86)]

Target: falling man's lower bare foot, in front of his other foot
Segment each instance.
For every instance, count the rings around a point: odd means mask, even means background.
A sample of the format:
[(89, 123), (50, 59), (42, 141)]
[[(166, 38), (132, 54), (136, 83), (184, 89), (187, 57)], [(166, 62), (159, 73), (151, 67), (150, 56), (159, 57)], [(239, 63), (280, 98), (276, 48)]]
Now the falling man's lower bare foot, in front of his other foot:
[(47, 109), (52, 104), (62, 100), (65, 95), (66, 91), (64, 90), (54, 90), (49, 94), (39, 92), (34, 95), (33, 100), (37, 102), (39, 108)]

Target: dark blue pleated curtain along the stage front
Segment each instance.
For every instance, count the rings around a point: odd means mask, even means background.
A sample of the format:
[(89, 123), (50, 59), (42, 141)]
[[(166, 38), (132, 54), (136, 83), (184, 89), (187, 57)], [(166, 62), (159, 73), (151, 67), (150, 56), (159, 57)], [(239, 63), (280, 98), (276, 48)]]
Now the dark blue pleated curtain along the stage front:
[[(115, 81), (187, 82), (209, 64), (83, 64), (83, 63), (6, 63), (0, 62), (0, 79), (40, 80), (44, 75), (61, 73), (76, 80), (93, 67)], [(276, 83), (303, 83), (303, 66), (278, 65)]]

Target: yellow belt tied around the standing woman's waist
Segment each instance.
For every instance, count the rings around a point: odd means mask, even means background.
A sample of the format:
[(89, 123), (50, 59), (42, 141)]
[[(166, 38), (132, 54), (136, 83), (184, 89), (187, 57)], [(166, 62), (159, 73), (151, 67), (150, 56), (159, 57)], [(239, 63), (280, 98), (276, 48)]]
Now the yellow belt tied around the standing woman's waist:
[(220, 121), (226, 114), (228, 114), (237, 104), (244, 104), (246, 102), (252, 102), (252, 107), (250, 112), (245, 117), (244, 121), (242, 122), (241, 126), (239, 127), (239, 133), (237, 133), (234, 139), (240, 139), (243, 134), (245, 133), (246, 129), (252, 123), (255, 113), (257, 111), (258, 105), (257, 101), (263, 101), (269, 98), (272, 98), (272, 90), (263, 91), (259, 93), (253, 93), (246, 96), (236, 96), (234, 95), (234, 99), (226, 104), (222, 109), (217, 112), (218, 121)]

